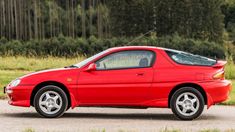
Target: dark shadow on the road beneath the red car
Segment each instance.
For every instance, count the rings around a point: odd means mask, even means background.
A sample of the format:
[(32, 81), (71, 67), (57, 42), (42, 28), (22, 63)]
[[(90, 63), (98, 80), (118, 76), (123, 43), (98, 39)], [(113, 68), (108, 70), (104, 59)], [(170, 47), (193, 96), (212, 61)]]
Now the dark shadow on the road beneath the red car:
[[(1, 113), (1, 116), (10, 118), (42, 118), (35, 113)], [(121, 119), (121, 120), (176, 120), (179, 121), (173, 114), (158, 114), (158, 113), (65, 113), (60, 118), (76, 118), (76, 119)], [(58, 119), (58, 118), (57, 118)], [(201, 115), (196, 120), (214, 120), (216, 116)]]

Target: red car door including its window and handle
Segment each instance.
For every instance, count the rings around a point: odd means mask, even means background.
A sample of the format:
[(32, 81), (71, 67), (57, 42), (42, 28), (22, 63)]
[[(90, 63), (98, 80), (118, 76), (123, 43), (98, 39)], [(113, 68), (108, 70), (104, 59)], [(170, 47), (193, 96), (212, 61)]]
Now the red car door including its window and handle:
[(148, 100), (155, 53), (128, 50), (95, 62), (96, 70), (81, 71), (78, 97), (82, 104), (138, 104)]

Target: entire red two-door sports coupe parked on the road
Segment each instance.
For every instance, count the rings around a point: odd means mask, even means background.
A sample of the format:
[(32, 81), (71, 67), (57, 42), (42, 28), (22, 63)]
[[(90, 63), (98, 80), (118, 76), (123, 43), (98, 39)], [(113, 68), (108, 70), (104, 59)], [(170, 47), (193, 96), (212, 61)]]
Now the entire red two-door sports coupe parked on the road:
[(149, 46), (107, 49), (78, 64), (35, 72), (5, 87), (9, 104), (59, 117), (70, 107), (171, 108), (182, 120), (225, 101), (226, 61)]

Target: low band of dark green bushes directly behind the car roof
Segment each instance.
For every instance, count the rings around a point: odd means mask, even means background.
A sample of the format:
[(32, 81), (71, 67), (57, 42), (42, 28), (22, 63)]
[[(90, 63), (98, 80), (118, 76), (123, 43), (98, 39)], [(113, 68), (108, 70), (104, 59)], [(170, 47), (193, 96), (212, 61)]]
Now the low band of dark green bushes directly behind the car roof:
[(97, 39), (91, 36), (89, 39), (70, 38), (60, 35), (44, 40), (30, 41), (6, 41), (0, 40), (1, 56), (65, 56), (73, 57), (77, 55), (90, 56), (110, 47), (149, 45), (165, 47), (204, 55), (212, 58), (225, 58), (224, 48), (220, 44), (186, 39), (178, 35), (166, 37), (144, 37), (142, 39), (131, 41), (127, 38)]

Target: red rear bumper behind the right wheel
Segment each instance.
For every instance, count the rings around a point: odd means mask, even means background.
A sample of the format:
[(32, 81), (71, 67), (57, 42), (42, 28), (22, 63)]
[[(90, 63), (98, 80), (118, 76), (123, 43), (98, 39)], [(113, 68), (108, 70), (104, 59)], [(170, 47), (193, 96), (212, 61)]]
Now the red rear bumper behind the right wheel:
[(208, 108), (216, 103), (221, 103), (228, 99), (232, 90), (232, 83), (229, 80), (217, 80), (213, 82), (200, 83), (207, 94)]

